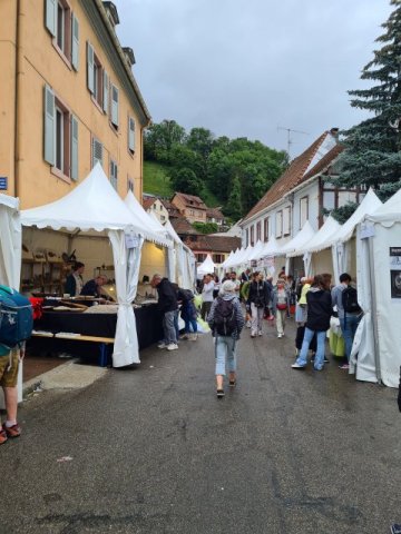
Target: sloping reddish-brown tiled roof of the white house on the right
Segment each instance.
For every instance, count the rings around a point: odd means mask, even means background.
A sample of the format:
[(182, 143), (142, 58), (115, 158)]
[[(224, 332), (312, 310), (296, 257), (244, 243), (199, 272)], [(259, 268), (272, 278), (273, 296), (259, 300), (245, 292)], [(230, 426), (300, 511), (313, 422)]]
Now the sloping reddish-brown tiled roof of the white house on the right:
[[(283, 196), (287, 192), (290, 192), (294, 187), (299, 186), (302, 184), (306, 178), (311, 178), (314, 176), (317, 170), (317, 167), (320, 167), (320, 164), (330, 156), (330, 158), (333, 158), (333, 154), (335, 154), (335, 148), (334, 147), (332, 150), (330, 150), (311, 170), (307, 171), (305, 175), (305, 171), (307, 167), (311, 165), (313, 158), (317, 154), (319, 148), (323, 144), (324, 139), (326, 136), (330, 135), (329, 131), (325, 131), (322, 134), (301, 156), (295, 158), (290, 167), (285, 170), (285, 172), (278, 178), (277, 181), (273, 184), (273, 186), (267, 190), (267, 192), (261, 198), (261, 200), (251, 209), (251, 211), (244, 217), (243, 222), (256, 215), (258, 211), (262, 211), (263, 209), (267, 208), (268, 206), (272, 206), (274, 202), (283, 198)], [(340, 154), (340, 152), (339, 152)], [(326, 159), (326, 165), (330, 162)]]

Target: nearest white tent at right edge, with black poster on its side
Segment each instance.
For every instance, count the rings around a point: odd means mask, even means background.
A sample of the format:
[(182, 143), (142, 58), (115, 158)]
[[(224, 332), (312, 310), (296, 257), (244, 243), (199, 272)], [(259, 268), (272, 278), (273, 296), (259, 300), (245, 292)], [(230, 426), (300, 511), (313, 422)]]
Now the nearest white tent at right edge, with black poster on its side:
[[(351, 353), (359, 380), (398, 387), (401, 313), (401, 189), (358, 226), (358, 300), (363, 317)], [(356, 356), (358, 355), (358, 356)]]

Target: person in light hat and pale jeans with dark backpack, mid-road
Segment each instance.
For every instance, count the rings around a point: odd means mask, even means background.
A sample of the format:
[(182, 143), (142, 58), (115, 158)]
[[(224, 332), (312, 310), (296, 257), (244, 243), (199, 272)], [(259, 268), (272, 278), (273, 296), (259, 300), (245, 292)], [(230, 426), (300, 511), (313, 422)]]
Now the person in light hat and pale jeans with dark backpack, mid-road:
[(224, 397), (224, 377), (228, 367), (229, 386), (236, 385), (237, 355), (236, 348), (241, 330), (244, 327), (244, 316), (236, 294), (236, 285), (226, 280), (222, 285), (219, 296), (212, 305), (208, 325), (215, 338), (216, 358), (216, 393), (217, 398)]

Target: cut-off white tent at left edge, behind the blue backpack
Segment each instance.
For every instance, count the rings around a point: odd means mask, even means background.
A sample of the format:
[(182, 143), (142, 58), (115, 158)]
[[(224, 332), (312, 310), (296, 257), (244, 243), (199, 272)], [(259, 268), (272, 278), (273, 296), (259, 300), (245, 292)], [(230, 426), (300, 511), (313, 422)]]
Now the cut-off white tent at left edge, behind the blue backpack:
[[(0, 284), (19, 288), (21, 277), (22, 229), (19, 199), (0, 194)], [(4, 406), (2, 390), (0, 406)], [(18, 375), (18, 400), (22, 400), (22, 365)]]

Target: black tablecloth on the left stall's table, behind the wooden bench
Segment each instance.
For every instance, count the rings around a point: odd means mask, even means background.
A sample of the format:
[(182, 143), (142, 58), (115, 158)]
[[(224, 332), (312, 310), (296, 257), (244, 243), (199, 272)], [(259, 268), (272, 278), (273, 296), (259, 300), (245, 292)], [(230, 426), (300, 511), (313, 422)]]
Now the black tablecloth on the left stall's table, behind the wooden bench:
[[(162, 316), (156, 305), (135, 308), (139, 349), (163, 339)], [(115, 337), (117, 314), (43, 310), (35, 320), (36, 330), (74, 332), (87, 336)]]

